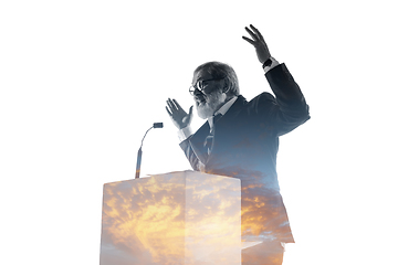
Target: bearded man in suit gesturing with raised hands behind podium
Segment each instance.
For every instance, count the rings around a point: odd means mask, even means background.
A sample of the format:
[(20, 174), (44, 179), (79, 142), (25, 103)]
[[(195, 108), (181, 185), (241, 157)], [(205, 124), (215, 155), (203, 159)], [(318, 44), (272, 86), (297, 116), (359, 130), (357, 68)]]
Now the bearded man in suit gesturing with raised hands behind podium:
[(180, 147), (193, 170), (239, 178), (242, 184), (242, 264), (282, 264), (285, 243), (294, 243), (276, 174), (279, 137), (308, 118), (304, 96), (284, 64), (270, 54), (253, 25), (243, 39), (255, 47), (275, 97), (262, 93), (248, 102), (240, 95), (232, 67), (209, 62), (193, 72), (190, 93), (198, 116), (207, 119), (190, 130), (176, 99), (166, 110), (179, 129)]

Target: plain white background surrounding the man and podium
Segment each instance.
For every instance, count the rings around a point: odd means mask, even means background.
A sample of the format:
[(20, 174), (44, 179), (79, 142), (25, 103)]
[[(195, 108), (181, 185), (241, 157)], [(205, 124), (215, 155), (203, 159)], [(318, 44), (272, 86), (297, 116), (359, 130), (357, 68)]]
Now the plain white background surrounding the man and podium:
[[(232, 65), (251, 99), (270, 87), (254, 24), (286, 63), (311, 120), (281, 138), (291, 264), (397, 264), (394, 1), (0, 3), (1, 264), (98, 264), (102, 189), (190, 169), (165, 110), (188, 109), (196, 66)], [(193, 127), (202, 120), (195, 117)]]

